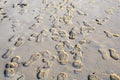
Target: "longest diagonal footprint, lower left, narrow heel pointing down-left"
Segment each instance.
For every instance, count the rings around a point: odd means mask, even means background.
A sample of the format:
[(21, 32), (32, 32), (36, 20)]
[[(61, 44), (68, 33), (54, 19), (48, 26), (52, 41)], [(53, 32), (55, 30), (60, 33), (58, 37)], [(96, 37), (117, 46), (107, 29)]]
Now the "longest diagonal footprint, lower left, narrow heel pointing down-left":
[(40, 59), (40, 53), (36, 53), (36, 54), (33, 54), (28, 61), (24, 62), (23, 63), (23, 66), (25, 67), (28, 67), (30, 66), (30, 64), (32, 64), (33, 62), (37, 61), (38, 59)]

